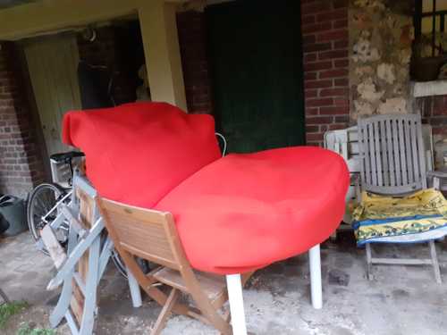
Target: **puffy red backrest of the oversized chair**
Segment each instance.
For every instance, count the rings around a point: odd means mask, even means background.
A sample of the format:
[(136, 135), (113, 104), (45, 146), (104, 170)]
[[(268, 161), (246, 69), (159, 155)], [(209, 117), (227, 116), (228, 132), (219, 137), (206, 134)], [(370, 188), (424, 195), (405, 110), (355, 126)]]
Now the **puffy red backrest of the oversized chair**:
[(66, 113), (63, 142), (85, 153), (101, 196), (146, 208), (221, 156), (212, 116), (164, 103)]

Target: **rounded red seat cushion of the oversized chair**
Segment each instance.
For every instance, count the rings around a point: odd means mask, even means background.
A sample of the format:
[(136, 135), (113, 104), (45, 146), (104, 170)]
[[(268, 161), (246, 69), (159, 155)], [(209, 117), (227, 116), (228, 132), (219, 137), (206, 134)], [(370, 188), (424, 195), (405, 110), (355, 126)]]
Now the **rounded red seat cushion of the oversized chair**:
[(342, 221), (348, 186), (340, 155), (288, 147), (227, 155), (183, 181), (156, 209), (173, 213), (193, 267), (239, 273), (327, 239)]

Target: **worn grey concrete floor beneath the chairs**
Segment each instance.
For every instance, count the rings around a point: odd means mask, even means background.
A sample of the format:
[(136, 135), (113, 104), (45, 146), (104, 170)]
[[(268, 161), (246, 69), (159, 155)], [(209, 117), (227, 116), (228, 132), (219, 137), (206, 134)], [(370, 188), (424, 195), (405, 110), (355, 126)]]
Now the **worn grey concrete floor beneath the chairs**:
[[(323, 310), (309, 303), (308, 260), (300, 255), (259, 271), (244, 290), (249, 331), (262, 334), (299, 335), (412, 335), (447, 333), (447, 242), (437, 244), (443, 285), (434, 282), (429, 267), (375, 267), (375, 281), (365, 279), (364, 250), (349, 235), (322, 247)], [(426, 246), (376, 247), (387, 256), (428, 255)], [(57, 292), (45, 290), (54, 270), (35, 251), (28, 234), (0, 241), (0, 286), (12, 299), (25, 299), (32, 307), (8, 325), (47, 325), (47, 315)], [(101, 334), (146, 334), (160, 307), (145, 298), (139, 309), (131, 307), (127, 283), (109, 266), (99, 292), (97, 331)], [(66, 325), (59, 334), (69, 334)], [(166, 335), (216, 334), (213, 329), (186, 317), (173, 316)]]

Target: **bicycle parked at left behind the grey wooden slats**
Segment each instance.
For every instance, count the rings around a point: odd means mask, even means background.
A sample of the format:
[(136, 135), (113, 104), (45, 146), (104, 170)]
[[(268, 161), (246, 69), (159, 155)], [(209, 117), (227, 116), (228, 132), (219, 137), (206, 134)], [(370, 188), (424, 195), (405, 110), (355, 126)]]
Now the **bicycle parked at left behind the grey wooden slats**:
[[(50, 164), (53, 182), (40, 184), (30, 192), (27, 204), (27, 220), (31, 236), (37, 243), (40, 239), (40, 230), (62, 213), (63, 205), (69, 205), (72, 199), (72, 179), (75, 173), (73, 163), (78, 168), (83, 157), (84, 154), (77, 151), (51, 155)], [(69, 228), (69, 222), (64, 221), (55, 231), (56, 238), (64, 248), (67, 247)], [(45, 247), (39, 247), (39, 249), (45, 255), (48, 255)], [(112, 261), (118, 271), (127, 278), (125, 265), (118, 253), (113, 252)]]

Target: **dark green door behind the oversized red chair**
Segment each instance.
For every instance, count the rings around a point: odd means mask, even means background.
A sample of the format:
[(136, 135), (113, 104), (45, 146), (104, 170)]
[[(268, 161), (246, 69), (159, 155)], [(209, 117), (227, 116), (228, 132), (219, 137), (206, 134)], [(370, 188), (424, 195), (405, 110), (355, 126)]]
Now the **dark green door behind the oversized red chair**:
[(240, 0), (207, 7), (216, 129), (230, 152), (304, 144), (299, 3)]

